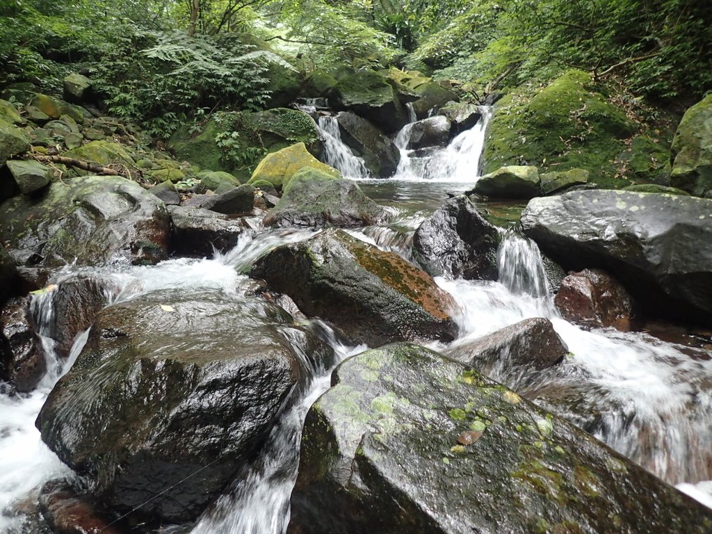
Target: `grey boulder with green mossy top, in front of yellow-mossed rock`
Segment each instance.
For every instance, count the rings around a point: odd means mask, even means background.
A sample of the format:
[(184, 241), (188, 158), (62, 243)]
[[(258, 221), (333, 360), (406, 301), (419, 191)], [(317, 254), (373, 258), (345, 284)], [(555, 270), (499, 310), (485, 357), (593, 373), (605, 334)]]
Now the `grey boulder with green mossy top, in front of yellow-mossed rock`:
[(265, 226), (340, 226), (378, 224), (386, 211), (350, 180), (305, 167), (295, 172)]

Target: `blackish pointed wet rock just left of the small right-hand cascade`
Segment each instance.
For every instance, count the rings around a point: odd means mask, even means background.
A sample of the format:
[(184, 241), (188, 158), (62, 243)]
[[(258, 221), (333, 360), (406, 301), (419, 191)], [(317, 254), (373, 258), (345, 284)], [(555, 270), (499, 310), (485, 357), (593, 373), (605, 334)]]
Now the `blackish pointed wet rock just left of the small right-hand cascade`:
[(499, 231), (472, 202), (461, 195), (449, 199), (413, 237), (413, 256), (431, 276), (497, 279)]

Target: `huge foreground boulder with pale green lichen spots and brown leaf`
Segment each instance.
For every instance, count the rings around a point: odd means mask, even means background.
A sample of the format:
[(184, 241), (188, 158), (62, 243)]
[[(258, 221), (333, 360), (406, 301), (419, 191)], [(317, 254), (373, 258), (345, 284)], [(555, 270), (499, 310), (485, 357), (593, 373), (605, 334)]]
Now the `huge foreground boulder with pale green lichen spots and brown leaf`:
[(466, 365), (345, 360), (310, 408), (289, 534), (704, 533), (712, 511)]

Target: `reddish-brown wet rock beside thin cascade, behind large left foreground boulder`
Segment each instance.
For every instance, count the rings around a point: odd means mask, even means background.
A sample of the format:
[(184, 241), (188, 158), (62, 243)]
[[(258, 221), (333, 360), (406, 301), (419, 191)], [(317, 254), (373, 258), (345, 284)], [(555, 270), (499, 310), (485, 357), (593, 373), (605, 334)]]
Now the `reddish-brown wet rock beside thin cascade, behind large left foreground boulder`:
[(76, 276), (51, 290), (53, 314), (48, 337), (56, 341), (58, 357), (68, 357), (76, 336), (93, 325), (96, 315), (120, 293), (120, 286), (95, 276)]

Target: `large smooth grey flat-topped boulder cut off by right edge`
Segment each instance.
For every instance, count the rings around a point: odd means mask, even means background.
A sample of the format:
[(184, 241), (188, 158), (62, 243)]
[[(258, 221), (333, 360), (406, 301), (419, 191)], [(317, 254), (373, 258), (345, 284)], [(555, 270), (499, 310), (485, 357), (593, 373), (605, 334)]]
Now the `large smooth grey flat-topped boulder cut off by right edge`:
[(524, 232), (567, 271), (602, 268), (651, 313), (712, 321), (712, 200), (590, 190), (529, 202)]

